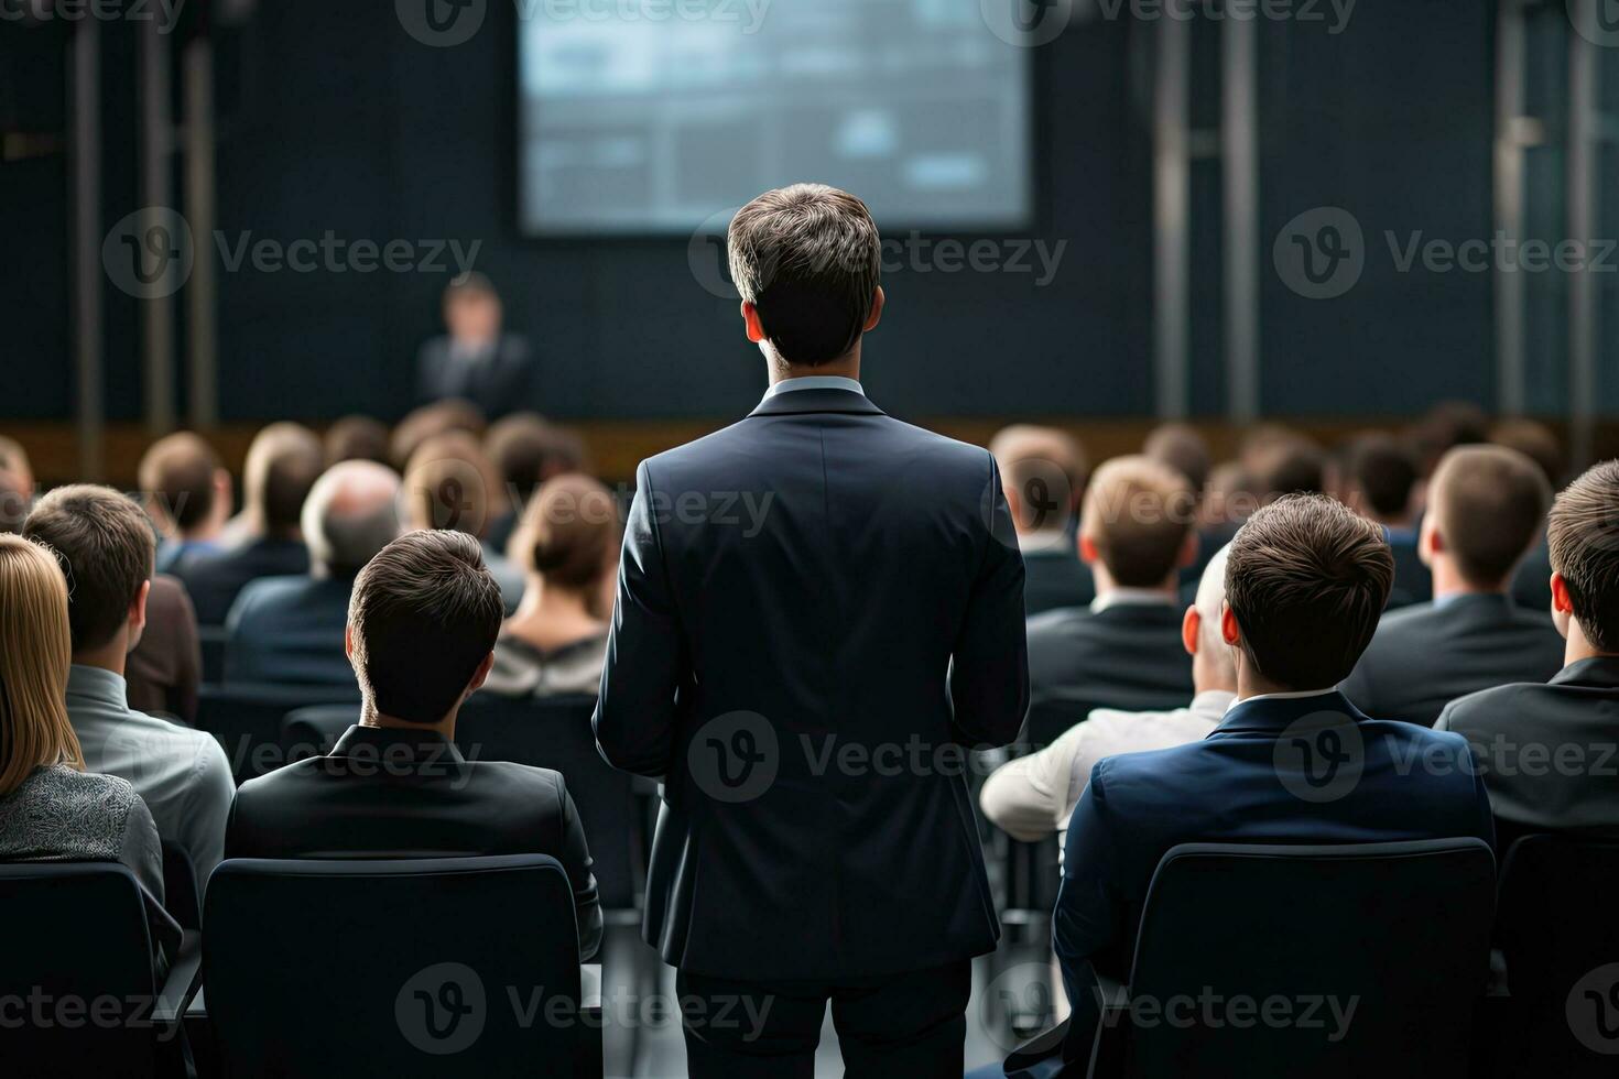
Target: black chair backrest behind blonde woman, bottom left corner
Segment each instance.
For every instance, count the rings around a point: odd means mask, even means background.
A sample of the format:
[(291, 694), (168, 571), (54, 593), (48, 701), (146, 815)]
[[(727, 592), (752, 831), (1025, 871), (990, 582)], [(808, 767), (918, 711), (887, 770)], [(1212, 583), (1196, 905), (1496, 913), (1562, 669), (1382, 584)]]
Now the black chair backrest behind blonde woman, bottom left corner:
[(0, 1014), (0, 1073), (157, 1074), (152, 940), (128, 867), (0, 864), (0, 1000), (18, 1001)]

